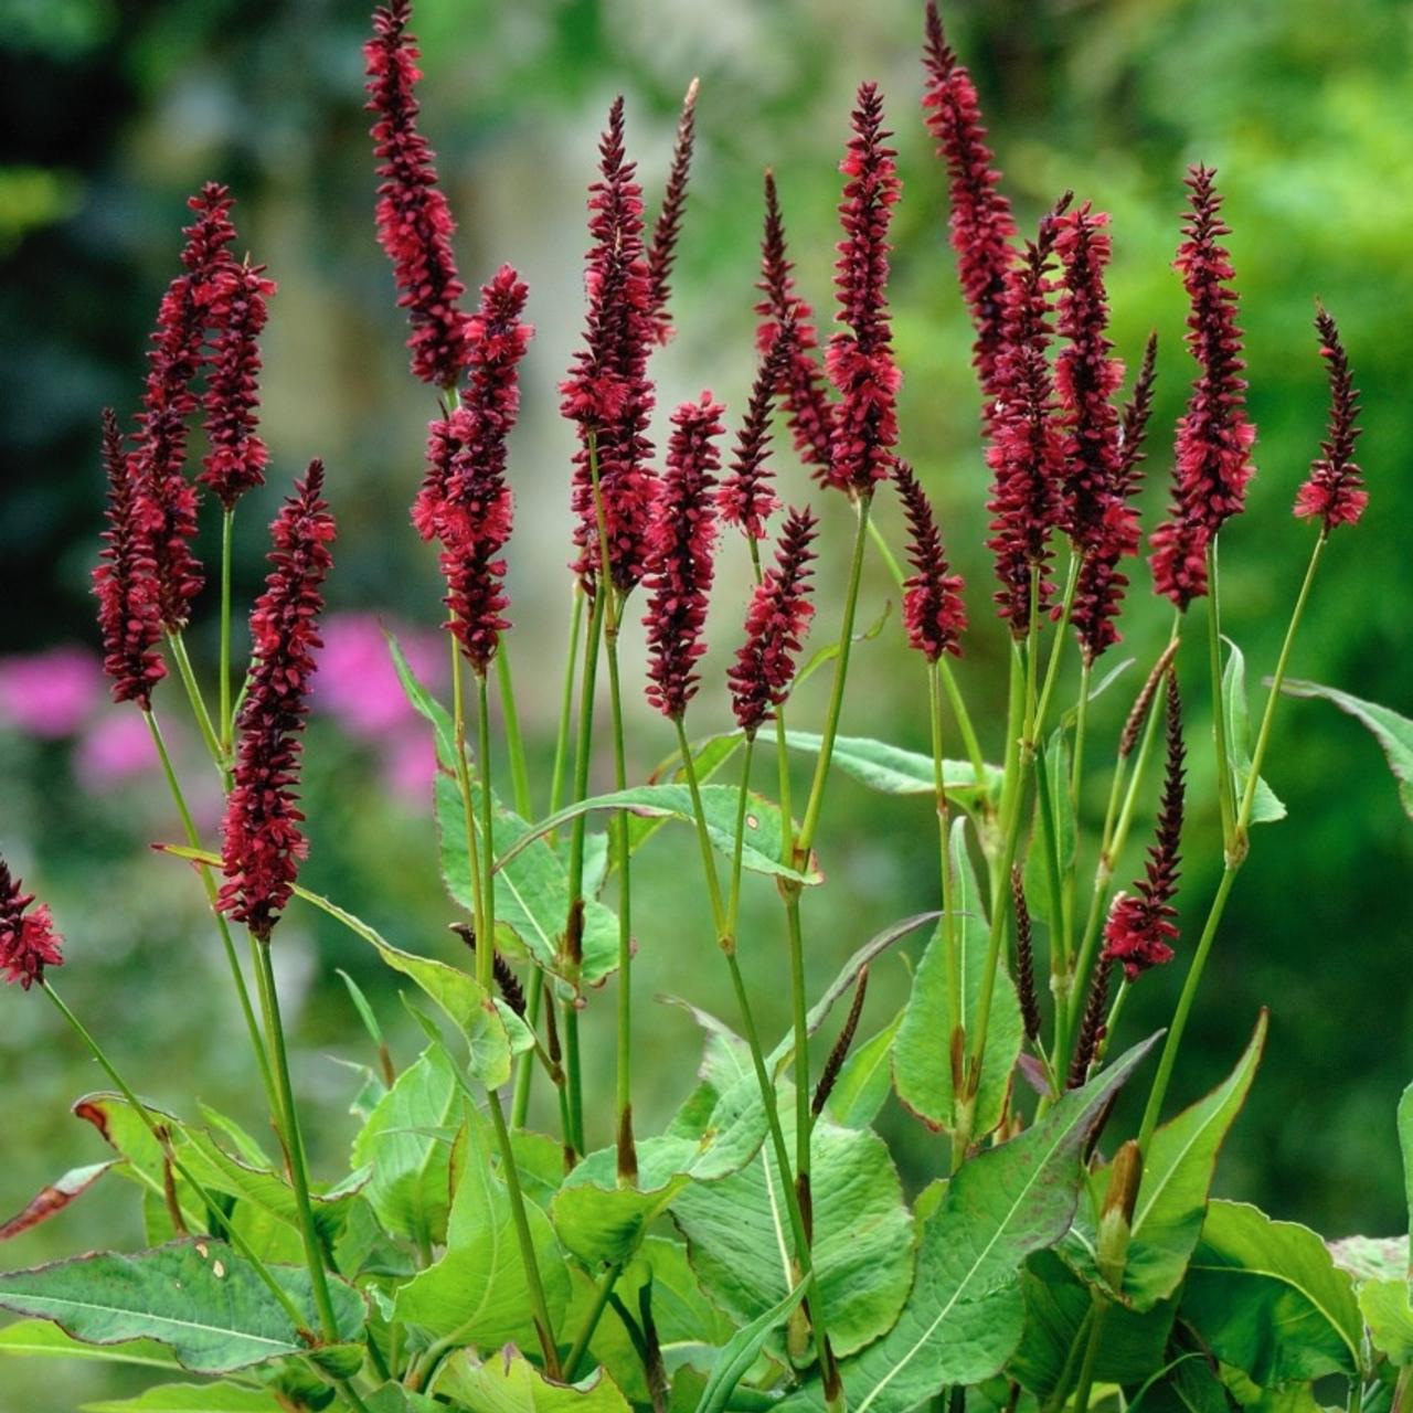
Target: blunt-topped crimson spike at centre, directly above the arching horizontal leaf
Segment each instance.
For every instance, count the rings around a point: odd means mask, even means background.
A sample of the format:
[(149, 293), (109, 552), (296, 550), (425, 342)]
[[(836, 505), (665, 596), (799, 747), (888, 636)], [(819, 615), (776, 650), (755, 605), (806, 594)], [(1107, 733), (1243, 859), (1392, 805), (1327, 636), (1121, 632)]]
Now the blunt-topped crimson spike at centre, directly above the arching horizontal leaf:
[(702, 393), (673, 413), (667, 472), (657, 497), (649, 550), (647, 699), (681, 721), (697, 695), (697, 660), (706, 651), (702, 629), (711, 593), (716, 517), (712, 487), (725, 408)]

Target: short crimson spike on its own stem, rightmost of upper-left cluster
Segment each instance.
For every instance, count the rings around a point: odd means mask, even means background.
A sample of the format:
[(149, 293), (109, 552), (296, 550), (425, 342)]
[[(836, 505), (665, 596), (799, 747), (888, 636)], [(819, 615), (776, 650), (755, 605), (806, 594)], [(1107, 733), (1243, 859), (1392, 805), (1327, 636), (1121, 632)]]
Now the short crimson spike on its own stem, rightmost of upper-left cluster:
[(260, 439), (260, 332), (266, 300), (276, 291), (264, 266), (232, 264), (212, 281), (209, 319), (216, 343), (206, 380), (206, 441), (211, 451), (196, 478), (226, 510), (256, 486), (264, 485), (270, 461)]

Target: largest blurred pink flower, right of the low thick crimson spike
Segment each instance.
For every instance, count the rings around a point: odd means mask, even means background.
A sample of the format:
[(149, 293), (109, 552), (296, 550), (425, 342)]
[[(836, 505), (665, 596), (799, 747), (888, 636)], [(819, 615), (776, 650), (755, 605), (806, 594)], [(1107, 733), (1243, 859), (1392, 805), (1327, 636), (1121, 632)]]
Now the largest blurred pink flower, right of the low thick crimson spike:
[[(333, 613), (322, 629), (324, 651), (314, 684), (314, 706), (350, 736), (380, 742), (413, 718), (384, 623), (374, 613)], [(435, 688), (445, 675), (445, 653), (435, 633), (397, 632), (397, 642), (417, 677)]]

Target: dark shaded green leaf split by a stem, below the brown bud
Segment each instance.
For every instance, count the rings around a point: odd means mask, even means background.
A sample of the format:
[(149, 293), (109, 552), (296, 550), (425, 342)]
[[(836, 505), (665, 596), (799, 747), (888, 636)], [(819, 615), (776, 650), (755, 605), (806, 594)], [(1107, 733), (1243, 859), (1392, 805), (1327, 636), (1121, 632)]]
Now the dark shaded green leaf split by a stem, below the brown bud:
[[(1006, 1372), (1044, 1402), (1060, 1385), (1085, 1318), (1094, 1308), (1094, 1296), (1053, 1251), (1037, 1251), (1026, 1262), (1020, 1293), (1026, 1304), (1026, 1325)], [(1176, 1310), (1174, 1301), (1163, 1301), (1146, 1314), (1111, 1306), (1104, 1321), (1095, 1379), (1099, 1383), (1139, 1383), (1146, 1379), (1163, 1364)]]

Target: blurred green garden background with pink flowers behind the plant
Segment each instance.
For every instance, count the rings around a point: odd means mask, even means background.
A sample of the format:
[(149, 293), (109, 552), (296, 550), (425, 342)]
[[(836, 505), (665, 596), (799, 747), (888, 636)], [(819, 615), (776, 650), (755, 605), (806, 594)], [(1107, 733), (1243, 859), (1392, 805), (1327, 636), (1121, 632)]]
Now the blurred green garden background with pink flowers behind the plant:
[[(1252, 688), (1284, 629), (1310, 530), (1290, 502), (1323, 428), (1314, 335), (1318, 294), (1340, 318), (1365, 394), (1361, 442), (1372, 500), (1335, 537), (1293, 671), (1409, 712), (1413, 634), (1413, 7), (1393, 0), (988, 0), (947, 7), (951, 35), (978, 76), (1007, 187), (1024, 222), (1067, 187), (1113, 213), (1113, 333), (1136, 360), (1150, 328), (1160, 355), (1145, 497), (1153, 524), (1166, 495), (1173, 420), (1191, 366), (1171, 270), (1187, 162), (1219, 168), (1249, 333), (1251, 404), (1260, 468), (1249, 513), (1224, 534), (1226, 629), (1248, 654)], [(137, 403), (143, 348), (174, 274), (185, 196), (229, 182), (242, 246), (280, 283), (264, 341), (264, 427), (271, 486), (237, 519), (236, 592), (261, 577), (264, 526), (312, 455), (329, 463), (341, 520), (329, 647), (309, 732), (312, 858), (307, 879), (403, 945), (455, 957), (454, 913), (435, 868), (430, 749), (403, 708), (380, 630), (400, 632), (435, 681), (432, 557), (407, 524), (434, 407), (407, 373), (404, 328), (372, 230), (373, 175), (362, 112), (362, 4), (332, 0), (0, 0), (0, 851), (54, 903), (69, 937), (69, 1000), (99, 1029), (133, 1081), (158, 1101), (203, 1099), (259, 1122), (242, 1033), (222, 988), (201, 890), (147, 851), (177, 821), (137, 714), (110, 706), (96, 667), (89, 569), (100, 528), (97, 413)], [(988, 750), (1000, 749), (1005, 636), (989, 612), (985, 475), (976, 438), (969, 331), (945, 246), (945, 187), (921, 126), (913, 0), (418, 0), (425, 130), (461, 233), (469, 281), (503, 260), (531, 285), (538, 336), (514, 437), (519, 524), (512, 552), (520, 678), (537, 774), (547, 766), (568, 609), (567, 466), (571, 432), (555, 386), (582, 314), (584, 187), (612, 96), (629, 99), (632, 154), (656, 209), (677, 105), (702, 81), (698, 155), (674, 301), (680, 335), (656, 359), (660, 413), (711, 386), (739, 417), (752, 373), (760, 175), (773, 167), (801, 288), (829, 301), (838, 151), (853, 86), (889, 97), (906, 191), (892, 285), (906, 370), (903, 447), (937, 500), (968, 575), (974, 632), (962, 680)], [(661, 438), (660, 438), (661, 439)], [(199, 455), (199, 444), (194, 447)], [(788, 451), (791, 499), (810, 492)], [(815, 495), (817, 503), (821, 500)], [(848, 509), (831, 497), (820, 634), (836, 623)], [(893, 507), (885, 512), (896, 531)], [(209, 528), (209, 527), (208, 527)], [(209, 547), (215, 558), (215, 547)], [(691, 725), (728, 721), (719, 687), (743, 605), (728, 558), (716, 595), (708, 688)], [(1109, 745), (1136, 681), (1167, 630), (1146, 571), (1126, 642), (1135, 657), (1094, 709), (1092, 812)], [(892, 596), (870, 565), (865, 620)], [(208, 605), (209, 609), (209, 605)], [(1200, 619), (1201, 610), (1197, 610)], [(1200, 623), (1194, 622), (1200, 629)], [(192, 630), (209, 673), (215, 620)], [(1194, 637), (1200, 639), (1200, 633)], [(1200, 680), (1201, 643), (1187, 677)], [(637, 649), (630, 649), (637, 653)], [(896, 615), (859, 649), (845, 731), (927, 749), (926, 691)], [(637, 678), (630, 667), (630, 680)], [(671, 747), (633, 692), (630, 752), (649, 770)], [(1194, 701), (1193, 793), (1184, 921), (1193, 934), (1219, 869), (1207, 752)], [(818, 721), (818, 695), (794, 714)], [(160, 694), (208, 832), (219, 801), (182, 729), (181, 701)], [(602, 764), (602, 763), (601, 763)], [(1330, 1235), (1403, 1229), (1393, 1105), (1413, 1077), (1409, 865), (1413, 829), (1373, 742), (1318, 702), (1280, 714), (1267, 774), (1289, 805), (1258, 831), (1190, 1031), (1178, 1098), (1235, 1058), (1260, 1005), (1272, 1007), (1266, 1063), (1224, 1160), (1221, 1187)], [(1133, 868), (1143, 828), (1135, 829)], [(822, 985), (844, 957), (896, 917), (933, 904), (924, 798), (866, 794), (839, 780), (821, 841), (829, 886), (808, 906), (810, 974)], [(636, 870), (644, 998), (640, 1128), (682, 1096), (698, 1036), (657, 992), (731, 1015), (685, 831), (667, 829)], [(694, 906), (701, 903), (702, 906)], [(771, 890), (752, 889), (746, 965), (771, 1029), (786, 1023), (783, 941)], [(913, 944), (916, 955), (917, 942)], [(280, 930), (278, 964), (294, 1017), (298, 1082), (318, 1166), (345, 1153), (353, 1077), (366, 1058), (335, 968), (374, 998), (400, 1056), (415, 1030), (356, 940), (304, 910)], [(1123, 1017), (1125, 1040), (1164, 1023), (1181, 968), (1149, 976)], [(869, 1020), (906, 988), (897, 959), (879, 968)], [(102, 1157), (68, 1105), (97, 1075), (37, 996), (4, 1000), (0, 1023), (0, 1208)], [(608, 1077), (612, 996), (591, 1003), (591, 1071)], [(938, 1140), (896, 1106), (883, 1128), (906, 1180), (941, 1161)], [(601, 1142), (608, 1129), (601, 1125)], [(99, 1188), (61, 1219), (11, 1243), (7, 1265), (140, 1239), (131, 1193)], [(11, 1372), (21, 1382), (11, 1382)], [(7, 1369), (6, 1407), (45, 1390), (72, 1406), (129, 1386), (106, 1371)], [(28, 1393), (25, 1390), (30, 1390)]]

